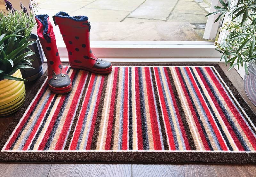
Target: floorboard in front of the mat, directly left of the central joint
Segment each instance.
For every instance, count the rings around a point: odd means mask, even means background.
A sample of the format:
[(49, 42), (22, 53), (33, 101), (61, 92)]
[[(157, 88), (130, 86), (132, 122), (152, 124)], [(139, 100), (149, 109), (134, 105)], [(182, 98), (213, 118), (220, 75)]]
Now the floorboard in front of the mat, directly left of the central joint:
[(131, 177), (131, 164), (52, 164), (48, 177)]

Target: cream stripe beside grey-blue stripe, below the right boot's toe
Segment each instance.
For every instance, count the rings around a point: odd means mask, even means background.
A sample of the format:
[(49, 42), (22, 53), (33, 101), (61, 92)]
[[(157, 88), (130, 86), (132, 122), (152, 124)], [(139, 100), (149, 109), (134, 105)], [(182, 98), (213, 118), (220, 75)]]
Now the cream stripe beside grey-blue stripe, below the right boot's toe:
[[(86, 139), (86, 135), (87, 135), (87, 132), (91, 130), (91, 126), (89, 127), (90, 125), (90, 122), (92, 122), (92, 116), (94, 114), (94, 103), (96, 102), (97, 100), (97, 96), (98, 96), (98, 93), (97, 93), (97, 90), (99, 89), (100, 87), (100, 80), (101, 80), (101, 76), (98, 75), (97, 79), (96, 79), (96, 83), (95, 83), (95, 89), (93, 90), (93, 95), (92, 95), (92, 102), (91, 102), (91, 105), (89, 107), (89, 112), (88, 112), (88, 116), (86, 119), (86, 124), (85, 124), (85, 127), (84, 127), (84, 132), (83, 132), (83, 136), (82, 136), (82, 142), (80, 144), (80, 147), (79, 147), (79, 150), (82, 150), (84, 148), (84, 143), (85, 143), (85, 140)], [(82, 108), (82, 109), (86, 109), (86, 108)]]

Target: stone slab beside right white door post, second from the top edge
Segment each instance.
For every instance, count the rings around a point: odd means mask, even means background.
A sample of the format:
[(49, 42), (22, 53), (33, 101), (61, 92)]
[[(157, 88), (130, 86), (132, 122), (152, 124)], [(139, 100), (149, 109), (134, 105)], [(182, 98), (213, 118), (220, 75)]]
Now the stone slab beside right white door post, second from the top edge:
[(187, 14), (187, 13), (172, 13), (167, 21), (186, 21), (188, 23), (206, 23), (205, 15)]

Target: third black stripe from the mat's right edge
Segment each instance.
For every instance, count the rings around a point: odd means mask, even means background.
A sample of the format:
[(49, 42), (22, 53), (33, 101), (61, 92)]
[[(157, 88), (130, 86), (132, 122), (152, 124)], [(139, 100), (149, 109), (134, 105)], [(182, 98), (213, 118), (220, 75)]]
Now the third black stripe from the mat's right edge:
[(200, 116), (199, 116), (199, 114), (198, 114), (198, 112), (197, 112), (196, 105), (195, 105), (195, 103), (194, 103), (194, 101), (193, 101), (193, 98), (192, 98), (192, 96), (191, 96), (191, 94), (190, 94), (190, 92), (189, 92), (189, 90), (188, 90), (188, 86), (187, 86), (187, 84), (186, 84), (186, 82), (185, 82), (185, 79), (184, 79), (184, 77), (183, 77), (183, 75), (182, 75), (182, 73), (181, 73), (180, 67), (178, 67), (178, 70), (179, 70), (179, 72), (180, 72), (180, 76), (181, 76), (181, 79), (182, 79), (182, 81), (183, 81), (183, 83), (184, 83), (185, 89), (186, 89), (186, 91), (187, 91), (187, 93), (188, 93), (188, 97), (189, 97), (189, 99), (190, 99), (190, 101), (191, 101), (191, 104), (192, 104), (192, 106), (193, 106), (193, 108), (194, 108), (194, 111), (195, 111), (195, 113), (196, 113), (196, 117), (197, 117), (197, 119), (198, 119), (198, 122), (199, 122), (199, 124), (200, 124), (200, 126), (201, 126), (201, 128), (202, 128), (202, 130), (203, 130), (203, 133), (204, 133), (204, 137), (205, 137), (205, 139), (206, 139), (206, 142), (207, 142), (207, 144), (208, 144), (210, 150), (213, 150), (212, 145), (211, 145), (211, 142), (210, 142), (210, 140), (209, 140), (209, 137), (208, 137), (208, 135), (207, 135), (207, 133), (206, 133), (206, 131), (205, 131), (205, 129), (204, 129), (203, 122), (202, 122), (202, 120), (201, 120), (201, 118), (200, 118)]

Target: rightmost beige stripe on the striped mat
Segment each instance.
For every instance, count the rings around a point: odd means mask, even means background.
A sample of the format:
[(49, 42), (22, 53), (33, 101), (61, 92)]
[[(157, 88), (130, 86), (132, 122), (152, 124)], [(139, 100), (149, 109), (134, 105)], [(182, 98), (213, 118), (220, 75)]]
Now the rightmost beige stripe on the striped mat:
[[(209, 74), (207, 73), (207, 71), (205, 70), (205, 68), (203, 68), (203, 70), (204, 70), (205, 74), (207, 75), (207, 78), (209, 79), (209, 81), (210, 81), (211, 83), (214, 83), (214, 82), (212, 81), (212, 79), (210, 78)], [(233, 122), (234, 122), (236, 128), (239, 130), (239, 132), (240, 132), (240, 134), (242, 135), (242, 137), (243, 137), (244, 141), (246, 142), (247, 146), (248, 146), (251, 150), (253, 150), (253, 147), (252, 147), (251, 142), (249, 141), (249, 139), (248, 139), (247, 136), (245, 135), (245, 133), (244, 133), (242, 127), (239, 125), (239, 123), (238, 123), (238, 121), (237, 121), (237, 119), (236, 119), (236, 116), (235, 116), (235, 115), (231, 112), (231, 110), (229, 109), (228, 105), (227, 105), (226, 102), (225, 102), (225, 99), (221, 96), (220, 92), (218, 91), (218, 88), (215, 86), (215, 84), (212, 84), (212, 87), (214, 88), (214, 90), (215, 90), (216, 93), (218, 94), (218, 97), (220, 98), (221, 103), (222, 103), (222, 104), (224, 105), (224, 107), (226, 108), (226, 110), (227, 110), (227, 112), (228, 112), (230, 118), (233, 120)]]

